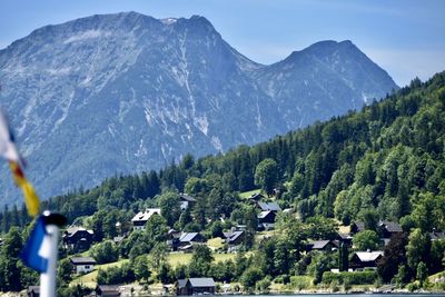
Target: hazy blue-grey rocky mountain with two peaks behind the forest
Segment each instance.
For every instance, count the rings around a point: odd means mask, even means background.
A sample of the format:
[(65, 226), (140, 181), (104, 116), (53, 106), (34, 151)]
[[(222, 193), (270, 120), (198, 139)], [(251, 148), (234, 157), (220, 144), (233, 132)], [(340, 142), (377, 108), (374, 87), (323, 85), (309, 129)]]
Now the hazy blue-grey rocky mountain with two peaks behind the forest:
[[(204, 17), (136, 12), (47, 26), (0, 51), (3, 106), (43, 198), (187, 152), (255, 143), (397, 89), (350, 41), (264, 66)], [(1, 171), (2, 202), (18, 196)]]

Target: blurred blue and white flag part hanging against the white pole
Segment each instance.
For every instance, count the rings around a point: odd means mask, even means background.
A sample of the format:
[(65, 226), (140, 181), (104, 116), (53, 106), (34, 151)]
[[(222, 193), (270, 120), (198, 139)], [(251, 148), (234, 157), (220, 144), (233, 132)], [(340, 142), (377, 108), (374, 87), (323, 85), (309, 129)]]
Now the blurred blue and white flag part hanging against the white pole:
[(49, 239), (46, 231), (44, 217), (40, 216), (20, 254), (20, 258), (28, 267), (39, 273), (46, 273), (48, 268), (48, 257), (50, 256), (46, 255), (48, 245)]

